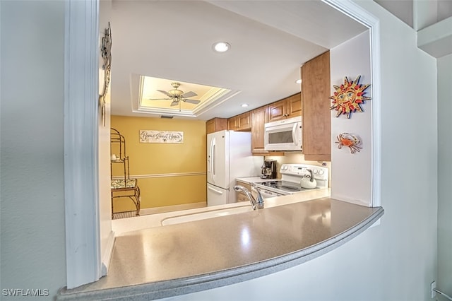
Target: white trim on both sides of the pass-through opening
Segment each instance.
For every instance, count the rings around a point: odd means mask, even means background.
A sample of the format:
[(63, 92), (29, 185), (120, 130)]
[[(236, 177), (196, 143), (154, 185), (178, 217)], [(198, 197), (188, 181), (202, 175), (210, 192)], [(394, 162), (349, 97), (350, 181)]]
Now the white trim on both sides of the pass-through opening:
[[(366, 25), (371, 37), (372, 200), (380, 206), (380, 25), (352, 1), (322, 0)], [(66, 0), (64, 185), (67, 288), (101, 276), (97, 172), (99, 0)]]

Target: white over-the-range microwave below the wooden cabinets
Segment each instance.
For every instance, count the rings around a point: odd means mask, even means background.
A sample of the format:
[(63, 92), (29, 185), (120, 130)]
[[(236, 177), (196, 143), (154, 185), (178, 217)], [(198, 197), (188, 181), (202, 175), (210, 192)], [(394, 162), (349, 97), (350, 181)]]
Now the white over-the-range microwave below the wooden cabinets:
[(293, 117), (265, 124), (266, 151), (302, 151), (302, 117)]

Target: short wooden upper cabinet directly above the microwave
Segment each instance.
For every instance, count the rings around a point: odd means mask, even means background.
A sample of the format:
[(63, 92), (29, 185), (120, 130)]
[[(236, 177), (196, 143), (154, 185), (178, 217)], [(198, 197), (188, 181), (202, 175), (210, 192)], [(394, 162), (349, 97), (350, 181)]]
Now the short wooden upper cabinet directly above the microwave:
[(301, 93), (289, 96), (283, 100), (270, 103), (268, 105), (268, 122), (274, 122), (280, 119), (300, 116), (302, 114), (302, 96)]

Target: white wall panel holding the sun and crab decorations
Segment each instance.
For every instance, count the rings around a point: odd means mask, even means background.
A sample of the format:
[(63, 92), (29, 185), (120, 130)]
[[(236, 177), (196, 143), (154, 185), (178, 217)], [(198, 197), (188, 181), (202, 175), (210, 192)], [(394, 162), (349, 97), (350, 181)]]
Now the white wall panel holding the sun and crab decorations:
[[(371, 83), (369, 31), (331, 49), (330, 61), (331, 95), (335, 93), (333, 85), (342, 85), (345, 76), (349, 82), (361, 76), (360, 84)], [(364, 96), (372, 97), (371, 88), (369, 86), (364, 90)], [(371, 102), (373, 101), (364, 101), (362, 104), (364, 112), (352, 113), (350, 119), (347, 119), (345, 114), (336, 117), (338, 111), (331, 110), (331, 183), (333, 183), (331, 197), (333, 199), (371, 206)], [(342, 133), (357, 136), (361, 141), (361, 151), (351, 153), (345, 146), (339, 149), (336, 141), (338, 141), (337, 136)]]

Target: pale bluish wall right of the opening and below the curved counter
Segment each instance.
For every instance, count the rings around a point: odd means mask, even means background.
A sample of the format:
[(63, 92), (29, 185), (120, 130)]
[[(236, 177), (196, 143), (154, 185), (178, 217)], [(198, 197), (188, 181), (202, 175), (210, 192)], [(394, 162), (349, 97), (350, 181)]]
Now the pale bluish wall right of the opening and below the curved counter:
[(416, 33), (408, 25), (374, 1), (356, 3), (381, 20), (381, 99), (370, 100), (380, 101), (382, 109), (381, 225), (305, 264), (170, 300), (431, 300), (436, 61), (417, 49)]

